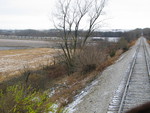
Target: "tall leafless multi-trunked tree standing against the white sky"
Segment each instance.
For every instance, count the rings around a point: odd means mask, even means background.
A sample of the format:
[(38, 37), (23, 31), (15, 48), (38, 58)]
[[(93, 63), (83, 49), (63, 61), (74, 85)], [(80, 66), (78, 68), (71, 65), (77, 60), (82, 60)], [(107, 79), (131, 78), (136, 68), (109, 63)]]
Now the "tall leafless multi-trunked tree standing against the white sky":
[[(58, 0), (54, 15), (54, 25), (60, 30), (61, 48), (68, 67), (73, 65), (73, 57), (82, 50), (87, 39), (99, 26), (106, 0)], [(84, 36), (79, 33), (84, 29)], [(79, 49), (80, 47), (80, 49)]]

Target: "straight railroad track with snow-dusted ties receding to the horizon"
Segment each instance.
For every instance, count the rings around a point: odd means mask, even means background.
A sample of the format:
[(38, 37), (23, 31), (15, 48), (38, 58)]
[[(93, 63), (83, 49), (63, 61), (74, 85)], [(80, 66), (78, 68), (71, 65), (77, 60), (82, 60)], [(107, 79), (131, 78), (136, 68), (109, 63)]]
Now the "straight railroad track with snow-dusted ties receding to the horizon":
[(130, 70), (121, 81), (107, 113), (125, 113), (133, 107), (150, 101), (150, 55), (145, 38), (139, 40)]

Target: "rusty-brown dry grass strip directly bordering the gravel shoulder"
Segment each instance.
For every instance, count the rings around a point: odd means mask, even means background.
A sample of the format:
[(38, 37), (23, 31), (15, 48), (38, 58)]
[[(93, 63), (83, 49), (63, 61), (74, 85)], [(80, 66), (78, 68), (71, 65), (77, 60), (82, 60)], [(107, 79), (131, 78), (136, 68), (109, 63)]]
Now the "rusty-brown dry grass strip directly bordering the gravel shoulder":
[[(93, 81), (99, 72), (103, 71), (107, 66), (113, 64), (119, 56), (123, 53), (123, 50), (118, 50), (114, 57), (108, 58), (105, 62), (101, 63), (96, 69), (91, 73), (86, 74), (86, 76), (79, 73), (74, 73), (71, 76), (66, 76), (63, 79), (55, 82), (56, 88), (55, 94), (51, 97), (52, 101), (59, 101), (60, 106), (65, 106), (73, 101), (73, 97), (78, 94), (88, 83)], [(61, 85), (60, 85), (61, 84)]]

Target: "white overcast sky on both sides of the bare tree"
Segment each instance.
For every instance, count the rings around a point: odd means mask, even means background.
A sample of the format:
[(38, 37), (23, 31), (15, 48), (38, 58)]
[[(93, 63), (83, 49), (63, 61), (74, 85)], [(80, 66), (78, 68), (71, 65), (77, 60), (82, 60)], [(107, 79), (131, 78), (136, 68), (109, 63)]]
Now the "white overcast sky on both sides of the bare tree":
[[(0, 29), (51, 29), (56, 0), (0, 0)], [(150, 0), (109, 0), (103, 29), (150, 27)]]

